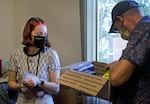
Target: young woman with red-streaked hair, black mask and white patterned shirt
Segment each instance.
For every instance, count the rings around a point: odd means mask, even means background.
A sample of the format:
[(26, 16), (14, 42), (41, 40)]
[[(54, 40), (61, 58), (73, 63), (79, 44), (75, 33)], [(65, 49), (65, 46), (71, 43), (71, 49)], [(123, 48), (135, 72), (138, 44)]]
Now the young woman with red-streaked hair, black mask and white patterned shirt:
[(51, 94), (60, 85), (58, 54), (50, 48), (46, 23), (39, 17), (30, 18), (23, 31), (24, 47), (10, 56), (8, 85), (18, 90), (16, 104), (54, 104)]

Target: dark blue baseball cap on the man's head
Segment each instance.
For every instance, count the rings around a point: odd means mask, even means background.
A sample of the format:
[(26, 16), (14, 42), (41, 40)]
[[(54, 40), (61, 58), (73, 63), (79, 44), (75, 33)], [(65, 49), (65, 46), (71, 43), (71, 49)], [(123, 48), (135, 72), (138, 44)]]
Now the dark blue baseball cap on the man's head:
[(131, 1), (131, 0), (121, 1), (121, 2), (117, 3), (111, 12), (112, 25), (111, 25), (111, 28), (109, 30), (109, 33), (116, 33), (114, 23), (117, 20), (117, 16), (121, 16), (125, 12), (127, 12), (128, 10), (130, 10), (132, 8), (138, 8), (138, 7), (139, 7), (138, 3), (135, 1)]

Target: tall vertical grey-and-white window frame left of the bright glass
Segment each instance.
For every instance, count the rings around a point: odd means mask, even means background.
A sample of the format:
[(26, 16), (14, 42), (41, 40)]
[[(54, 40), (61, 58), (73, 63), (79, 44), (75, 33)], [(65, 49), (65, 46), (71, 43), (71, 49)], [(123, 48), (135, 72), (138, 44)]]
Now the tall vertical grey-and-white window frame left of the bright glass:
[[(82, 60), (97, 60), (97, 0), (80, 0)], [(88, 12), (87, 12), (88, 11)], [(90, 41), (90, 42), (89, 42)]]

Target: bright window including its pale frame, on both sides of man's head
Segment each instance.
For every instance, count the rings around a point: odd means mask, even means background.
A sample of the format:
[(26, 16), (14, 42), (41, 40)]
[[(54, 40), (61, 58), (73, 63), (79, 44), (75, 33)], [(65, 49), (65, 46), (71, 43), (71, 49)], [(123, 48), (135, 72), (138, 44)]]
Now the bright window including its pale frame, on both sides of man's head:
[[(83, 60), (112, 62), (118, 60), (127, 41), (119, 34), (108, 33), (111, 10), (121, 0), (81, 0), (81, 30), (83, 34)], [(145, 14), (150, 14), (150, 0), (135, 0)], [(83, 28), (84, 27), (84, 28)]]

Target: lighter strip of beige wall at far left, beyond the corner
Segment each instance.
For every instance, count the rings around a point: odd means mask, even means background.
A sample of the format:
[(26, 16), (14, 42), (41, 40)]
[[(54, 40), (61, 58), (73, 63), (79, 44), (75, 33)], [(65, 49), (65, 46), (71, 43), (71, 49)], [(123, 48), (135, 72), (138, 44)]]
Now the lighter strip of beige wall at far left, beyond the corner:
[(13, 49), (13, 20), (11, 0), (0, 1), (0, 59), (7, 60)]

